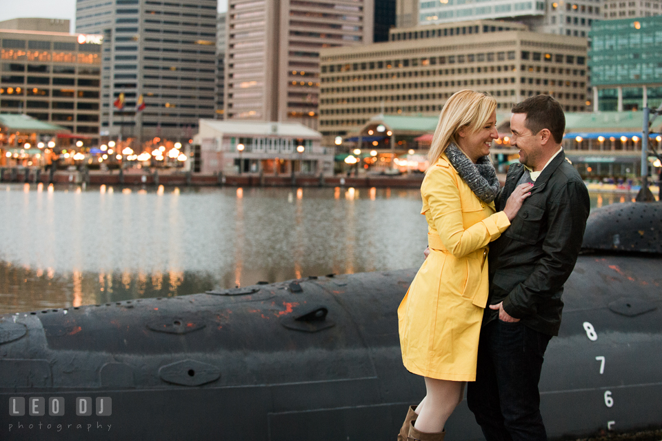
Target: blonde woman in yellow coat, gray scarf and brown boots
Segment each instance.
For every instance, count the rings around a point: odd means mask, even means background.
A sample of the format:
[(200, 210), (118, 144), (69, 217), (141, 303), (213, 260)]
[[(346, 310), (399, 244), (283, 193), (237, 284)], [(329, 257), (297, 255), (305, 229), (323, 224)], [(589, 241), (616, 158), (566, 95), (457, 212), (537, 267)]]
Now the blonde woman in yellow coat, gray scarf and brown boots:
[(489, 157), (499, 137), (495, 109), (489, 95), (461, 90), (443, 106), (432, 138), (421, 184), (430, 254), (398, 308), (403, 363), (425, 378), (427, 394), (410, 406), (399, 440), (443, 440), (465, 382), (476, 380), (488, 244), (530, 194), (530, 184), (518, 186), (495, 212), (499, 181)]

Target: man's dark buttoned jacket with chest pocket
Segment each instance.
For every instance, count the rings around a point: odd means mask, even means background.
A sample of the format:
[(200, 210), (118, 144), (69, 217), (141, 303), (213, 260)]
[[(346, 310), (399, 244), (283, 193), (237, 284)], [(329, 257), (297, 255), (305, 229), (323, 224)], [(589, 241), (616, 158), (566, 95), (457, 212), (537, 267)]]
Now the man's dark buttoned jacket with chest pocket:
[[(503, 210), (523, 173), (521, 164), (510, 166), (496, 210)], [(525, 326), (558, 335), (563, 284), (579, 254), (589, 210), (585, 184), (559, 153), (536, 179), (508, 230), (490, 244), (488, 304), (503, 301), (505, 312)], [(498, 315), (485, 308), (485, 323)]]

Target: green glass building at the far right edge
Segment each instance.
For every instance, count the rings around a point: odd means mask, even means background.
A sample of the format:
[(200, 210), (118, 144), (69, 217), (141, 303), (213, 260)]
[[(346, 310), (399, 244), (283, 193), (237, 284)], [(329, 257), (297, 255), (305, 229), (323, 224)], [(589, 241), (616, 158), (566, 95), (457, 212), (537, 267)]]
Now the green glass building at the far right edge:
[(662, 15), (599, 21), (589, 37), (594, 111), (662, 104)]

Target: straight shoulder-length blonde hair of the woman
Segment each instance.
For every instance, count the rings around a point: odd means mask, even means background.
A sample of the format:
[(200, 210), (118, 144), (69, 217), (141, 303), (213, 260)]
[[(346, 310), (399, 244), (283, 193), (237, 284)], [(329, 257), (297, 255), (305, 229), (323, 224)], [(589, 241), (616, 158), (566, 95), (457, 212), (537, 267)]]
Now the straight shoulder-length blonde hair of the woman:
[(452, 142), (457, 144), (457, 131), (466, 127), (469, 133), (476, 133), (490, 119), (496, 109), (496, 99), (473, 90), (455, 92), (446, 101), (439, 115), (437, 130), (434, 130), (432, 144), (428, 152), (430, 168)]

